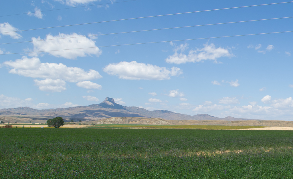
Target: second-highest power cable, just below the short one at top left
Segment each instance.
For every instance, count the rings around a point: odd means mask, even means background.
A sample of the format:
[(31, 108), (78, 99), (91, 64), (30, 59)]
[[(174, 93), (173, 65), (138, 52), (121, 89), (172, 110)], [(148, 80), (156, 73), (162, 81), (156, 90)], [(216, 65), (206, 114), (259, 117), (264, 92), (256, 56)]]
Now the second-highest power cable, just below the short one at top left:
[[(23, 32), (23, 31), (29, 31), (29, 30), (41, 30), (41, 29), (50, 29), (50, 28), (57, 28), (57, 27), (69, 27), (69, 26), (75, 26), (75, 25), (87, 25), (87, 24), (96, 24), (96, 23), (106, 23), (106, 22), (115, 22), (115, 21), (121, 21), (121, 20), (133, 20), (133, 19), (142, 19), (142, 18), (151, 18), (151, 17), (172, 16), (172, 15), (179, 15), (179, 14), (208, 12), (208, 11), (218, 11), (218, 10), (235, 9), (235, 8), (246, 8), (246, 7), (255, 7), (255, 6), (266, 6), (266, 5), (284, 4), (284, 3), (292, 3), (292, 2), (293, 1), (280, 2), (280, 3), (271, 3), (271, 4), (259, 4), (259, 5), (251, 5), (251, 6), (239, 6), (239, 7), (231, 7), (231, 8), (221, 8), (221, 9), (212, 9), (212, 10), (203, 10), (203, 11), (193, 11), (193, 12), (184, 12), (184, 13), (164, 14), (164, 15), (157, 15), (157, 16), (145, 16), (145, 17), (138, 17), (138, 18), (127, 18), (127, 19), (118, 19), (118, 20), (106, 20), (106, 21), (92, 22), (92, 23), (82, 23), (82, 24), (73, 24), (73, 25), (61, 25), (61, 26), (55, 26), (55, 27), (43, 27), (43, 28), (27, 29), (27, 30), (16, 30), (16, 31), (11, 31), (11, 32)], [(4, 34), (4, 33), (10, 33), (10, 32), (1, 32), (0, 34)]]

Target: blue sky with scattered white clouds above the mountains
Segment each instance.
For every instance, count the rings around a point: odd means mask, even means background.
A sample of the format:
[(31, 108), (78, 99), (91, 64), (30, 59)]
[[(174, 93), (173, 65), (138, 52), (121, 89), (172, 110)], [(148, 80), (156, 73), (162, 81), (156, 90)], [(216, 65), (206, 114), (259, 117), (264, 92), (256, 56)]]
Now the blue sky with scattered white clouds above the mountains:
[(292, 8), (281, 0), (3, 1), (0, 109), (110, 97), (150, 111), (292, 121)]

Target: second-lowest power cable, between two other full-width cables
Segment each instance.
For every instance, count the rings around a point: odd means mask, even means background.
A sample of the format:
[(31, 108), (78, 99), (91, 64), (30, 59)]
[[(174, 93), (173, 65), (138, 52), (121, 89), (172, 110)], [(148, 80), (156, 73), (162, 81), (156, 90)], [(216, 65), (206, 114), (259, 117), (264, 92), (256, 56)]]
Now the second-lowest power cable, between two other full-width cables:
[(47, 40), (58, 40), (58, 39), (71, 39), (71, 38), (79, 38), (79, 37), (94, 37), (94, 36), (100, 36), (100, 35), (115, 35), (115, 34), (133, 33), (133, 32), (147, 32), (147, 31), (155, 31), (155, 30), (168, 30), (168, 29), (178, 29), (178, 28), (186, 28), (186, 27), (200, 27), (200, 26), (207, 26), (207, 25), (221, 25), (221, 24), (232, 24), (232, 23), (243, 23), (243, 22), (255, 22), (255, 21), (262, 21), (262, 20), (276, 20), (276, 19), (286, 19), (286, 18), (293, 18), (293, 16), (291, 16), (291, 17), (282, 17), (282, 18), (245, 20), (245, 21), (227, 22), (227, 23), (190, 25), (190, 26), (183, 26), (183, 27), (170, 27), (170, 28), (161, 28), (161, 29), (150, 29), (150, 30), (137, 30), (137, 31), (128, 31), (128, 32), (115, 32), (115, 33), (108, 33), (108, 34), (85, 35), (85, 36), (77, 36), (77, 37), (64, 37), (64, 38), (56, 38), (56, 39), (42, 39), (42, 40), (32, 40), (32, 41), (23, 41), (23, 42), (9, 42), (9, 43), (3, 43), (3, 44), (0, 44), (0, 45), (17, 44), (17, 43), (25, 43), (25, 42), (38, 42), (38, 41), (47, 41)]

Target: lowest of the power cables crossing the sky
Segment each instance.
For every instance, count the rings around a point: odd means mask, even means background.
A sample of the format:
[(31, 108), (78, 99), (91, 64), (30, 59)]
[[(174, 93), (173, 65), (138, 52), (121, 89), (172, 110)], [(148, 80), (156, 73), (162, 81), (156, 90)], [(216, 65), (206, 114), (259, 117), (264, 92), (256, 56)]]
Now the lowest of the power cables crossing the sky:
[(205, 38), (196, 38), (196, 39), (167, 40), (167, 41), (158, 41), (158, 42), (142, 42), (142, 43), (134, 43), (134, 44), (106, 45), (106, 46), (84, 47), (84, 48), (75, 48), (75, 49), (58, 49), (58, 50), (17, 52), (17, 53), (7, 53), (7, 54), (0, 54), (0, 55), (28, 54), (28, 53), (40, 53), (40, 52), (49, 52), (49, 51), (62, 51), (62, 50), (92, 49), (92, 48), (101, 48), (101, 47), (117, 47), (117, 46), (140, 45), (140, 44), (155, 44), (155, 43), (163, 43), (163, 42), (179, 42), (179, 41), (215, 39), (215, 38), (224, 38), (224, 37), (241, 37), (241, 36), (249, 36), (249, 35), (278, 34), (278, 33), (287, 33), (287, 32), (293, 32), (293, 30), (291, 30), (291, 31), (283, 31), (283, 32), (266, 32), (266, 33), (258, 33), (258, 34), (229, 35), (229, 36), (219, 36), (219, 37), (205, 37)]

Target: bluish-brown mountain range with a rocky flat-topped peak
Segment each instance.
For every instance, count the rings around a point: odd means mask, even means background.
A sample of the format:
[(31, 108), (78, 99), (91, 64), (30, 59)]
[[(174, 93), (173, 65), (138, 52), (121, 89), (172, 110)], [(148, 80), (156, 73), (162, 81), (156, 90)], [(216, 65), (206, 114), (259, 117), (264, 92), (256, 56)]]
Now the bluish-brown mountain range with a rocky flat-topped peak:
[(139, 118), (161, 118), (164, 120), (225, 120), (225, 121), (240, 121), (249, 120), (243, 118), (233, 118), (228, 116), (226, 118), (218, 118), (208, 114), (197, 114), (195, 116), (174, 113), (166, 110), (148, 111), (139, 107), (127, 107), (115, 103), (113, 98), (107, 97), (100, 104), (92, 104), (89, 106), (76, 106), (69, 108), (57, 109), (32, 109), (29, 107), (0, 109), (1, 116), (10, 116), (17, 118), (41, 118), (45, 120), (60, 116), (64, 120), (74, 121), (97, 121), (111, 117), (139, 117)]

